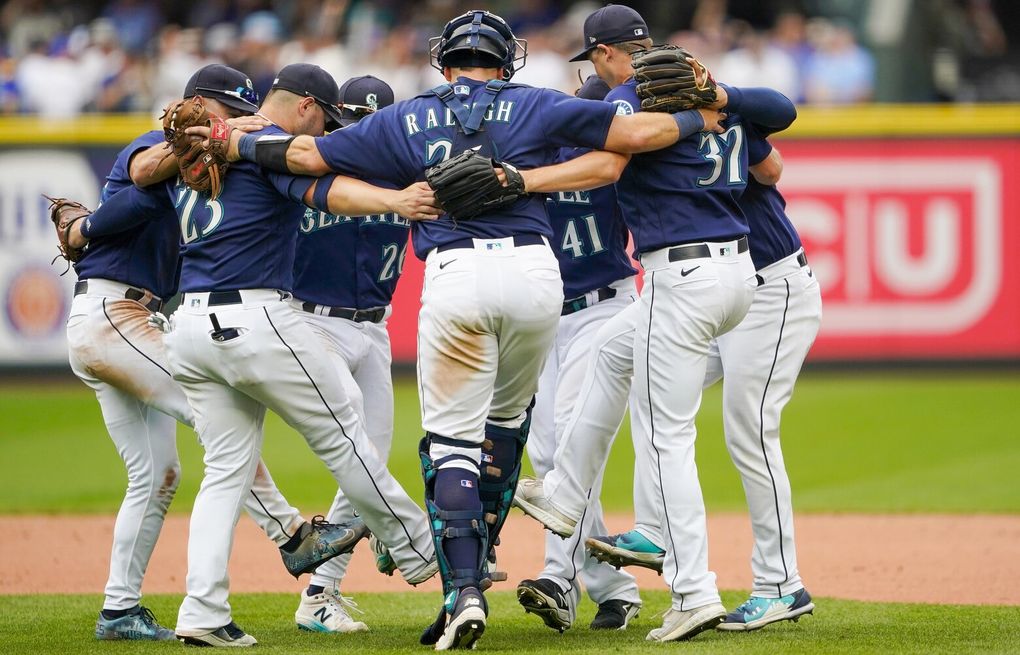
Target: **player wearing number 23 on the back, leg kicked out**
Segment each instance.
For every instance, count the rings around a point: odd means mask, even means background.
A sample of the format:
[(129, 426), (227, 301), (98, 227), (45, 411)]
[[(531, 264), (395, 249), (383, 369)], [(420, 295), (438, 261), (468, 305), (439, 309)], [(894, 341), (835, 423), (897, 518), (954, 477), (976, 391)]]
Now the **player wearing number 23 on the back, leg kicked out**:
[[(336, 82), (318, 66), (286, 66), (259, 112), (272, 124), (256, 134), (321, 135), (341, 118), (338, 100)], [(298, 203), (353, 215), (421, 215), (423, 194), (242, 163), (231, 169), (218, 198), (180, 183), (175, 197), (184, 297), (164, 343), (195, 411), (206, 464), (192, 511), (177, 636), (197, 645), (256, 643), (231, 619), (226, 564), (238, 512), (255, 478), (266, 408), (302, 434), (390, 547), (404, 578), (427, 580), (437, 565), (426, 517), (387, 470), (321, 340), (289, 302), (305, 210)]]

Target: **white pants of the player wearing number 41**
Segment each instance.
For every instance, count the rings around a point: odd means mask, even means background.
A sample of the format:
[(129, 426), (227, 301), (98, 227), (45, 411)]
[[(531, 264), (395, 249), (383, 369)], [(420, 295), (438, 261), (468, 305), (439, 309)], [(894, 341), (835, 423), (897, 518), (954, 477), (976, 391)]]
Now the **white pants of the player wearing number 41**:
[[(615, 297), (560, 317), (556, 341), (539, 379), (527, 441), (528, 457), (540, 477), (552, 468), (556, 447), (578, 401), (596, 333), (638, 298), (633, 278), (617, 281), (612, 288), (616, 290)], [(561, 589), (568, 590), (573, 607), (580, 598), (581, 582), (596, 604), (612, 599), (641, 603), (633, 575), (589, 557), (584, 549), (584, 540), (590, 535), (605, 534), (606, 524), (599, 502), (601, 488), (600, 472), (592, 489), (592, 502), (570, 539), (560, 539), (551, 533), (546, 535), (546, 563), (539, 575), (554, 580)]]

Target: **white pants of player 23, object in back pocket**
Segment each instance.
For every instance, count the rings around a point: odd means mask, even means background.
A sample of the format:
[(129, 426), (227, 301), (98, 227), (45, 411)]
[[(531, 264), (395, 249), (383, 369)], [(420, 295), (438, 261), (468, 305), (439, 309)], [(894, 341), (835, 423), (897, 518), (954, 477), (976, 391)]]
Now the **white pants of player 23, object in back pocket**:
[[(368, 441), (320, 340), (286, 302), (290, 295), (240, 295), (239, 304), (209, 306), (209, 294), (186, 294), (164, 337), (205, 447), (188, 544), (188, 595), (177, 616), (183, 635), (231, 621), (226, 565), (255, 477), (266, 408), (302, 434), (402, 571), (414, 574), (435, 558), (424, 512)], [(239, 336), (215, 341), (211, 314)]]

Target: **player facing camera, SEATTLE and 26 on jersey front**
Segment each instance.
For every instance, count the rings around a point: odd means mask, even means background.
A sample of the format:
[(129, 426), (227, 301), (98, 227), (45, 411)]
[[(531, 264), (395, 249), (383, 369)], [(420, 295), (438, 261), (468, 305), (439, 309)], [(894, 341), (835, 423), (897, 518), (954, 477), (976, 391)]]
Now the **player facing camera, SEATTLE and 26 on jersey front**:
[[(342, 128), (393, 104), (390, 85), (364, 75), (340, 88)], [(391, 185), (371, 181), (380, 187)], [(294, 263), (294, 300), (309, 328), (323, 339), (325, 350), (368, 440), (382, 461), (393, 441), (393, 380), (387, 318), (397, 281), (404, 267), (411, 223), (395, 213), (338, 216), (307, 208), (301, 220)], [(342, 253), (342, 254), (338, 254)], [(343, 522), (354, 509), (337, 492), (327, 520)], [(295, 613), (299, 627), (322, 633), (367, 629), (354, 620), (354, 601), (340, 593), (350, 562), (342, 555), (320, 566), (301, 594)]]

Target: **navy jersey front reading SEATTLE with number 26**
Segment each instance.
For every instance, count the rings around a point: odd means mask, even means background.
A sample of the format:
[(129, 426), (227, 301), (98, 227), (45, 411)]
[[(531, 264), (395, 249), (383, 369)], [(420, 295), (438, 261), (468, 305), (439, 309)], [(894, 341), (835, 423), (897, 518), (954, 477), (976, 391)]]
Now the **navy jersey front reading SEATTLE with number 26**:
[(411, 221), (395, 213), (338, 216), (306, 208), (294, 260), (295, 298), (355, 309), (389, 305), (410, 229)]

